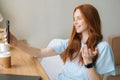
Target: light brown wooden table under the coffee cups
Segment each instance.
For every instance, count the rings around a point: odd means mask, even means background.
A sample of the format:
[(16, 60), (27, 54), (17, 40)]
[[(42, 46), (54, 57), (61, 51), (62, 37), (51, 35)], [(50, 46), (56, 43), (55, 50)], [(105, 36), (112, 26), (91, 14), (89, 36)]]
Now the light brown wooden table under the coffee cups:
[(11, 68), (0, 68), (0, 74), (18, 74), (41, 76), (43, 80), (49, 80), (49, 77), (42, 68), (39, 60), (20, 49), (12, 49)]

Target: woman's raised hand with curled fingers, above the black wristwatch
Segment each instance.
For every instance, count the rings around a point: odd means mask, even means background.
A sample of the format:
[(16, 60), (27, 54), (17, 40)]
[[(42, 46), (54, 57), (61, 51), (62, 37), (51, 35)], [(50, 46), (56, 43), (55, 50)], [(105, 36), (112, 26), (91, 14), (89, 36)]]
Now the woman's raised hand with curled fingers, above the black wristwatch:
[(98, 50), (97, 48), (95, 48), (95, 51), (91, 51), (91, 49), (88, 49), (87, 45), (85, 45), (82, 48), (82, 57), (83, 57), (83, 61), (84, 64), (89, 64), (89, 63), (93, 63), (93, 57), (98, 54)]

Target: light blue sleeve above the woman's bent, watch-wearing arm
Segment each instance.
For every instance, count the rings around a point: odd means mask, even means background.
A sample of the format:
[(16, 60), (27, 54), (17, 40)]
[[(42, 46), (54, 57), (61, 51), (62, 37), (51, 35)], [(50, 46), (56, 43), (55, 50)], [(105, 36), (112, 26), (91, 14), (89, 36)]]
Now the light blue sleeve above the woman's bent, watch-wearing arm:
[(97, 45), (99, 55), (95, 68), (99, 74), (115, 75), (114, 55), (108, 42), (102, 41)]

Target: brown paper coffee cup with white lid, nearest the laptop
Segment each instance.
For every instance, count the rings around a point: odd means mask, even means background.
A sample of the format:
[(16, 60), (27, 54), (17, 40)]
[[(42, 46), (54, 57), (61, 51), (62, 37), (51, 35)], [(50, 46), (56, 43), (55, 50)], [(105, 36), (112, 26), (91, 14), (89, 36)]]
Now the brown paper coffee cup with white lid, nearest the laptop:
[(10, 52), (0, 53), (0, 67), (4, 67), (4, 68), (11, 67), (11, 54), (10, 54)]

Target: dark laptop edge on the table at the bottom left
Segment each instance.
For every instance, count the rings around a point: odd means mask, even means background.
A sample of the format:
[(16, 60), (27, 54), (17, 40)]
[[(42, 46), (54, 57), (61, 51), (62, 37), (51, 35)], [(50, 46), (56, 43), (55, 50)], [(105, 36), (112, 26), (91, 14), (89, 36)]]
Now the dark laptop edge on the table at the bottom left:
[(42, 77), (15, 74), (0, 74), (0, 80), (42, 80)]

